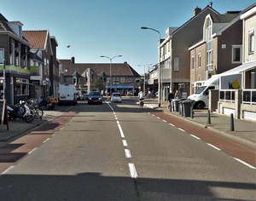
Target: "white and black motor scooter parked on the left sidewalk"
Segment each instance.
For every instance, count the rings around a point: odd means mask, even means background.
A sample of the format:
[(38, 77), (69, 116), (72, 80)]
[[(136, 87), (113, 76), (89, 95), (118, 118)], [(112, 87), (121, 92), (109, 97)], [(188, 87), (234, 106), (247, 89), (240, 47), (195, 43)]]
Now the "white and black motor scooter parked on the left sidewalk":
[(13, 118), (22, 118), (26, 121), (26, 123), (32, 123), (34, 120), (34, 114), (32, 110), (26, 106), (26, 101), (20, 100), (20, 103), (15, 106), (7, 106), (7, 113), (9, 120)]

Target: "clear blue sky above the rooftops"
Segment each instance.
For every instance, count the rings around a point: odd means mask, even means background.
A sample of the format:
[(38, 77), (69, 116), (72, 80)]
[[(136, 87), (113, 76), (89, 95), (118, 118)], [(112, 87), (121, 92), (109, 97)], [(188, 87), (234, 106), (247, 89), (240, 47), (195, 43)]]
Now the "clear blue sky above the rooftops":
[(23, 30), (49, 30), (59, 44), (58, 59), (108, 63), (100, 55), (122, 55), (113, 63), (127, 61), (143, 73), (144, 65), (158, 62), (159, 34), (140, 27), (154, 28), (164, 38), (168, 27), (182, 26), (196, 6), (204, 9), (209, 2), (224, 14), (255, 0), (1, 0), (0, 13), (23, 23)]

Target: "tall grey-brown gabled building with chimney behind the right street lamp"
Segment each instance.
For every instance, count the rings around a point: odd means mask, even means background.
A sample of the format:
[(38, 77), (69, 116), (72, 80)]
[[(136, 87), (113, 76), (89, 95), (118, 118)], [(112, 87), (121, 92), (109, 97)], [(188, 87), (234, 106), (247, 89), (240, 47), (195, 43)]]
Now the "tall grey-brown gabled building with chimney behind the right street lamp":
[(190, 93), (190, 52), (188, 47), (203, 37), (203, 25), (208, 14), (217, 17), (212, 4), (205, 9), (196, 7), (193, 17), (183, 26), (168, 28), (166, 39), (160, 44), (163, 100), (168, 92), (178, 90), (184, 97)]

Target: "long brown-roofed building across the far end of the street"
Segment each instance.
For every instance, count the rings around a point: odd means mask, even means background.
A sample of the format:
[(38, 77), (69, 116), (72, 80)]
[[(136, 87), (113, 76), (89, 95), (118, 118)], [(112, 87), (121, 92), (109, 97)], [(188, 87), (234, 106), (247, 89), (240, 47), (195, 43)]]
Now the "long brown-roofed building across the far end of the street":
[[(127, 63), (75, 63), (59, 60), (61, 63), (61, 83), (73, 83), (77, 89), (103, 90), (108, 94), (119, 92), (125, 95), (137, 94), (141, 87), (141, 76)], [(102, 80), (102, 89), (97, 89), (96, 80)]]

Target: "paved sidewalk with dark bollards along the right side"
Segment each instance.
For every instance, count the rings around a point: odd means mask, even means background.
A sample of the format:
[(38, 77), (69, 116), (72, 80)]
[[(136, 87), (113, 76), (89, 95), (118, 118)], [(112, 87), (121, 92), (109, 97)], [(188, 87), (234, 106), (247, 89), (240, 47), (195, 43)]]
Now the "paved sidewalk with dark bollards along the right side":
[[(213, 132), (218, 133), (219, 135), (224, 135), (229, 137), (234, 141), (240, 141), (248, 146), (253, 146), (256, 148), (256, 122), (244, 120), (244, 119), (235, 119), (234, 118), (234, 131), (230, 131), (231, 118), (218, 113), (210, 113), (208, 117), (208, 110), (194, 110), (194, 118), (183, 117), (179, 112), (170, 112), (167, 109), (169, 105), (168, 101), (161, 103), (161, 106), (158, 106), (157, 99), (145, 99), (145, 106), (154, 108), (155, 110), (160, 110), (166, 112), (169, 115), (175, 116), (176, 118), (182, 118), (187, 123), (195, 123), (198, 126), (201, 126), (205, 129), (211, 129)], [(210, 119), (210, 124), (208, 120)]]

